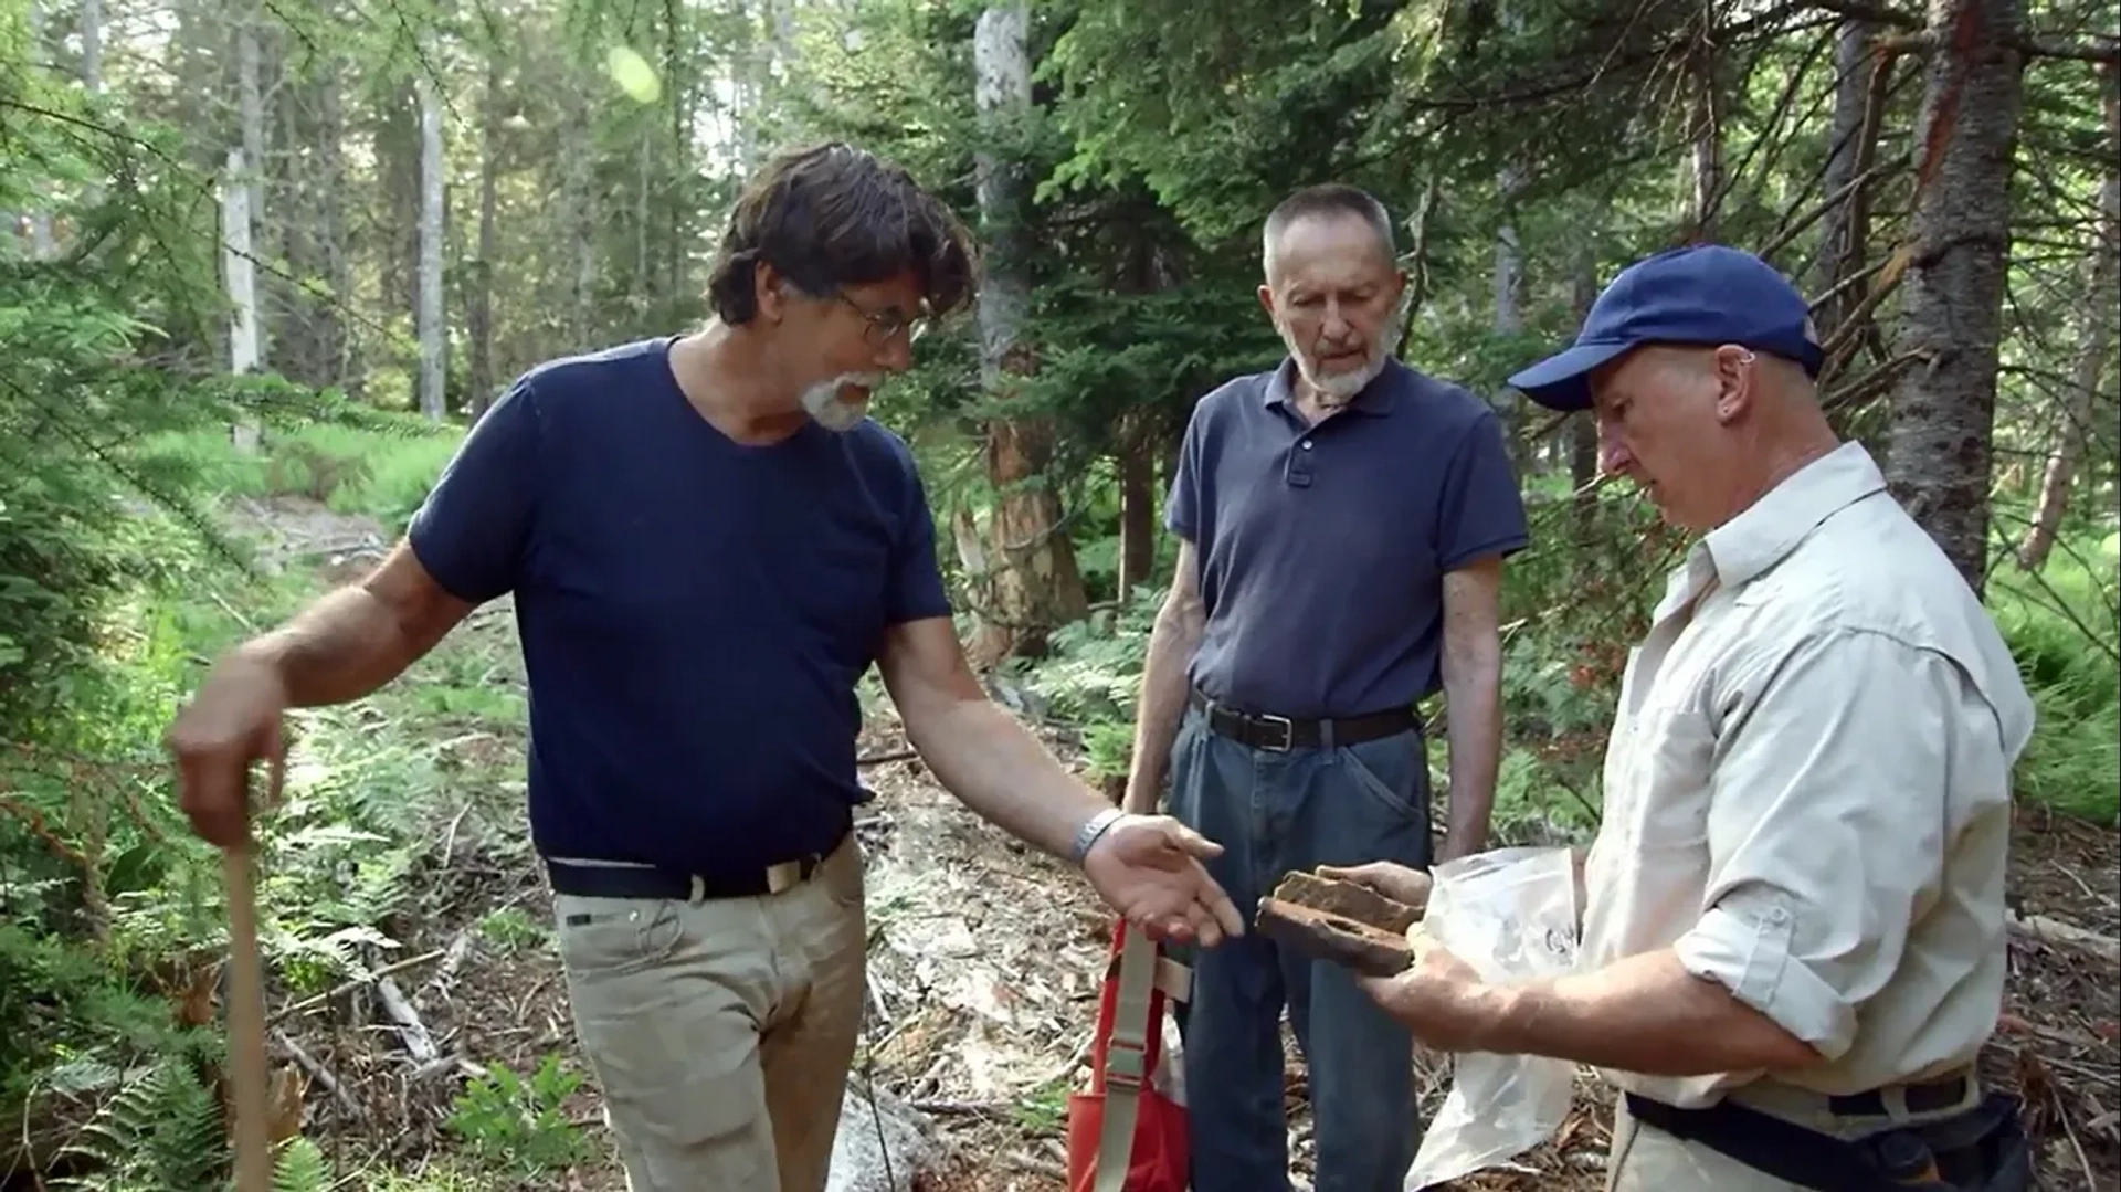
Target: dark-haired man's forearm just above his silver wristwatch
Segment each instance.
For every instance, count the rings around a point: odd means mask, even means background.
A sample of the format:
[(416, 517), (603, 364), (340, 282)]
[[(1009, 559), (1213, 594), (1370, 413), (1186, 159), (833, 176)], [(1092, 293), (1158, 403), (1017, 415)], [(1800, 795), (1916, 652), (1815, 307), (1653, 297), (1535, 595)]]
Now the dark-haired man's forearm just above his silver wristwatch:
[(906, 738), (965, 806), (1054, 857), (1069, 859), (1075, 831), (1109, 806), (988, 700), (908, 721)]

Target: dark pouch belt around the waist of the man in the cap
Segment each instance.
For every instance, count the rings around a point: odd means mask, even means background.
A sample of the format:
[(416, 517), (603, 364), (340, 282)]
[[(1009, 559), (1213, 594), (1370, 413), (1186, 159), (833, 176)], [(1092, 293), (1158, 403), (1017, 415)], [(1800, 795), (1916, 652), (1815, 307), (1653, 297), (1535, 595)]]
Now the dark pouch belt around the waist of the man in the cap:
[(1843, 1141), (1733, 1101), (1678, 1109), (1627, 1094), (1637, 1122), (1816, 1192), (2026, 1192), (2032, 1150), (2019, 1105), (1989, 1092), (1964, 1114)]

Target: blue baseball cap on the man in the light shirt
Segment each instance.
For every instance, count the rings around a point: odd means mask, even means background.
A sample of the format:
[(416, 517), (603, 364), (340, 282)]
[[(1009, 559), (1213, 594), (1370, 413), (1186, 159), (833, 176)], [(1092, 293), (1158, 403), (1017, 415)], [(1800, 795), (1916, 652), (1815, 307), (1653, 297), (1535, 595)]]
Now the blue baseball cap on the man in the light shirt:
[(1548, 409), (1591, 409), (1591, 369), (1646, 344), (1737, 344), (1820, 375), (1805, 297), (1773, 265), (1722, 244), (1667, 248), (1597, 295), (1576, 344), (1510, 378)]

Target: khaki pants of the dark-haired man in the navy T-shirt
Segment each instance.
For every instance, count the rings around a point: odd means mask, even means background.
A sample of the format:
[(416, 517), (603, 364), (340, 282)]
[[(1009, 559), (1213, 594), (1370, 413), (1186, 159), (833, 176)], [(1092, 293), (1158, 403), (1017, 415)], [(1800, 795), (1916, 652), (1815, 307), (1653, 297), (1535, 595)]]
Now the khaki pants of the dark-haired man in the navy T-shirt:
[(867, 993), (853, 834), (778, 895), (554, 910), (626, 1186), (821, 1192)]

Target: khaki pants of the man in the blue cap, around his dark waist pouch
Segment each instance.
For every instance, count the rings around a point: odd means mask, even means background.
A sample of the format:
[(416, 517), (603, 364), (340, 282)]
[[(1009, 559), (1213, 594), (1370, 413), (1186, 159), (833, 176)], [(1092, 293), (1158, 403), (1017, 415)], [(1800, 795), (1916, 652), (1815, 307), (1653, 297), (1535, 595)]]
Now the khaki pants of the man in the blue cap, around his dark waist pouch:
[[(1822, 1135), (1837, 1139), (1860, 1139), (1888, 1126), (1909, 1122), (1934, 1122), (1973, 1109), (1981, 1101), (1975, 1082), (1962, 1105), (1934, 1114), (1907, 1114), (1892, 1094), (1886, 1097), (1883, 1118), (1843, 1118), (1826, 1107), (1818, 1092), (1790, 1088), (1788, 1084), (1756, 1082), (1733, 1090), (1729, 1097), (1763, 1114), (1773, 1114)], [(1894, 1111), (1898, 1109), (1898, 1111)], [(1627, 1111), (1627, 1101), (1618, 1101), (1612, 1114), (1612, 1152), (1606, 1162), (1606, 1192), (1809, 1192), (1801, 1184), (1775, 1179), (1765, 1171), (1746, 1167), (1701, 1143), (1676, 1139), (1657, 1126), (1644, 1126)]]

